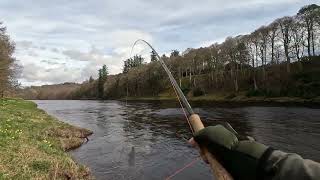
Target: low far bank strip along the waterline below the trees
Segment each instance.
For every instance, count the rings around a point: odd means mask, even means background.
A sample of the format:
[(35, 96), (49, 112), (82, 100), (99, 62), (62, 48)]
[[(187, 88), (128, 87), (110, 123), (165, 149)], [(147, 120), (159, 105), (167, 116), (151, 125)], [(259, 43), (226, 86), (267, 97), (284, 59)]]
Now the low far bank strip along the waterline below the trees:
[[(304, 99), (299, 97), (246, 97), (246, 96), (214, 96), (214, 95), (207, 95), (207, 96), (199, 96), (199, 97), (188, 97), (187, 98), (191, 103), (234, 103), (236, 104), (247, 104), (247, 105), (320, 105), (320, 97), (312, 98), (312, 99)], [(121, 101), (174, 101), (177, 100), (177, 97), (174, 96), (158, 96), (158, 97), (125, 97), (120, 98), (118, 100)]]

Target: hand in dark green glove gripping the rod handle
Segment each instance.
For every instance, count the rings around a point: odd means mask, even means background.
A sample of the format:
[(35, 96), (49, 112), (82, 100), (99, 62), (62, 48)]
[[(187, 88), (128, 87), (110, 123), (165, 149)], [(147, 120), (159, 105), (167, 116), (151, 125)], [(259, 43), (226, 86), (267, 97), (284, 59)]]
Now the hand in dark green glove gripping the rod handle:
[(239, 140), (237, 134), (222, 125), (200, 130), (189, 142), (199, 149), (202, 159), (208, 162), (201, 151), (202, 147), (206, 147), (235, 179), (257, 179), (260, 158), (268, 149), (252, 139)]

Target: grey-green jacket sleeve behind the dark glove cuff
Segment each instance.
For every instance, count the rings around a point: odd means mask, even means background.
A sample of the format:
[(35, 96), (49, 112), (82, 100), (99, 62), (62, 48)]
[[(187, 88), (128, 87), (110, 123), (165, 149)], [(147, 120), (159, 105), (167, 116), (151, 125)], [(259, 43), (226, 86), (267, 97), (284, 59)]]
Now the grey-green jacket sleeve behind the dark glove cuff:
[(320, 164), (297, 154), (272, 151), (264, 164), (261, 179), (320, 180)]

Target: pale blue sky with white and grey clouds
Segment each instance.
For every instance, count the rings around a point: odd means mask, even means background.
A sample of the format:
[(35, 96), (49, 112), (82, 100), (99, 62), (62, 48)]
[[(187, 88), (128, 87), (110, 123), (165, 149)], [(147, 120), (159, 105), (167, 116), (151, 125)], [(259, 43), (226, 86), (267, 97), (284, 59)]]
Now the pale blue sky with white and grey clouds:
[(1, 0), (0, 22), (16, 43), (23, 86), (83, 82), (110, 74), (151, 43), (159, 54), (247, 34), (320, 0)]

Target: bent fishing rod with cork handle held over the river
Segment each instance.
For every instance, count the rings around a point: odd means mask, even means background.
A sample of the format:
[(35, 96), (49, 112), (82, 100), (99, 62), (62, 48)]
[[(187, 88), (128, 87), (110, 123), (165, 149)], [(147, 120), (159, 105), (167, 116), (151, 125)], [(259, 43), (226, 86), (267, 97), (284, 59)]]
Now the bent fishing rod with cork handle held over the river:
[[(177, 81), (174, 79), (171, 71), (169, 70), (168, 66), (165, 64), (165, 62), (163, 61), (163, 59), (159, 56), (158, 52), (151, 46), (150, 43), (148, 43), (147, 41), (143, 40), (143, 39), (138, 39), (132, 46), (132, 50), (134, 48), (134, 46), (138, 43), (138, 42), (144, 42), (145, 44), (147, 44), (151, 50), (155, 53), (155, 55), (157, 56), (161, 66), (163, 67), (163, 69), (165, 70), (165, 72), (167, 73), (167, 75), (169, 76), (169, 80), (172, 84), (172, 87), (177, 95), (177, 98), (179, 100), (179, 103), (182, 107), (182, 110), (184, 111), (184, 109), (186, 109), (188, 116), (186, 116), (187, 122), (190, 126), (190, 129), (192, 131), (192, 133), (196, 133), (198, 131), (200, 131), (201, 129), (204, 128), (204, 125), (200, 119), (200, 116), (196, 113), (194, 113), (190, 103), (188, 102), (187, 98), (185, 97), (185, 95), (183, 94), (181, 88), (179, 87)], [(131, 50), (131, 53), (132, 53)], [(217, 180), (232, 180), (233, 178), (231, 177), (231, 175), (228, 173), (228, 171), (217, 161), (217, 159), (211, 154), (209, 153), (208, 149), (205, 147), (201, 147), (201, 151), (203, 152), (205, 159), (207, 160), (207, 162), (210, 164), (210, 168), (213, 172), (213, 175), (215, 177), (215, 179)]]

